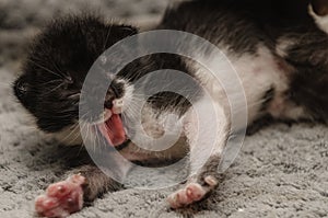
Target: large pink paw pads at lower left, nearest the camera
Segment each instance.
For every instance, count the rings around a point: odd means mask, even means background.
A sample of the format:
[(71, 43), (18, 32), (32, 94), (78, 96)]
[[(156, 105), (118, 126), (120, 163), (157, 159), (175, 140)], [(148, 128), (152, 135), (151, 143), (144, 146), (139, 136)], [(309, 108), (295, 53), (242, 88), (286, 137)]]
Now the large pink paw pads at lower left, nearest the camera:
[(83, 206), (83, 190), (85, 177), (75, 174), (66, 181), (48, 186), (45, 195), (35, 200), (35, 210), (44, 217), (68, 217), (79, 211)]

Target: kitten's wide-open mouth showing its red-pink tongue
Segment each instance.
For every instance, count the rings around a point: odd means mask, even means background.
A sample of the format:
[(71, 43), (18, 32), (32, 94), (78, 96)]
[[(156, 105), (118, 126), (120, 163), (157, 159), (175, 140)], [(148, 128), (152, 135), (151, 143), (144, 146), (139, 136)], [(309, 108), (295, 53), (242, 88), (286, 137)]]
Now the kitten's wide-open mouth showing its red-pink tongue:
[(105, 122), (98, 124), (97, 128), (110, 146), (117, 147), (127, 139), (121, 117), (113, 111), (106, 110)]

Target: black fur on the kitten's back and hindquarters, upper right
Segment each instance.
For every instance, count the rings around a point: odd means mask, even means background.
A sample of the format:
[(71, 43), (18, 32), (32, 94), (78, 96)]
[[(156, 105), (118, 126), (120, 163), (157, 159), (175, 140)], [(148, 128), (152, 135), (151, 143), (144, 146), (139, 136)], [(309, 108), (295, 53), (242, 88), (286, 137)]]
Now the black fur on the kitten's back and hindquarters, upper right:
[(325, 0), (191, 1), (168, 10), (159, 28), (195, 33), (227, 46), (236, 56), (254, 54), (259, 44), (276, 53), (278, 38), (290, 37), (294, 44), (283, 58), (294, 68), (290, 100), (305, 106), (313, 117), (327, 121), (328, 36), (308, 14), (309, 3), (328, 14)]

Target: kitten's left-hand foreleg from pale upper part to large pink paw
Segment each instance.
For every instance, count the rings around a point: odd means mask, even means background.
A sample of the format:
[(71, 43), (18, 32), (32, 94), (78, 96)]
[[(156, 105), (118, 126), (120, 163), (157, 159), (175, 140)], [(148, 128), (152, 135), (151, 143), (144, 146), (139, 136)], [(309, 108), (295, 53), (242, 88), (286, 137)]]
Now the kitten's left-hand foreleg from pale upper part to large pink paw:
[[(150, 156), (137, 152), (137, 147), (129, 142), (119, 153), (110, 156), (110, 174), (124, 180), (132, 169), (131, 162), (144, 161)], [(121, 159), (124, 157), (124, 159)], [(89, 204), (102, 194), (124, 188), (124, 185), (105, 174), (96, 165), (83, 165), (69, 173), (65, 181), (49, 185), (46, 193), (37, 197), (36, 211), (45, 217), (67, 217), (81, 210), (83, 204)]]

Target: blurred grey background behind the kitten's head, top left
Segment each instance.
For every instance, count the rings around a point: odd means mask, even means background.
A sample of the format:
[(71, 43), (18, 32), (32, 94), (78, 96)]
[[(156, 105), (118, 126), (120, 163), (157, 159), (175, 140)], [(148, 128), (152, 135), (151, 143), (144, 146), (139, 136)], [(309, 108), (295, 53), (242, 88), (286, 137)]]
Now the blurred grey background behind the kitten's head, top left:
[(0, 66), (23, 57), (33, 35), (54, 18), (92, 11), (137, 25), (157, 22), (169, 0), (0, 0)]

